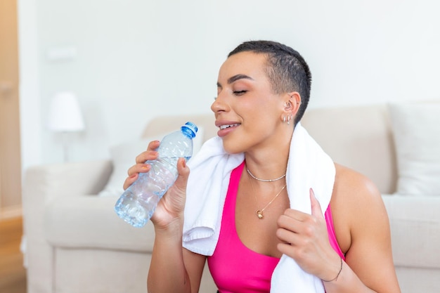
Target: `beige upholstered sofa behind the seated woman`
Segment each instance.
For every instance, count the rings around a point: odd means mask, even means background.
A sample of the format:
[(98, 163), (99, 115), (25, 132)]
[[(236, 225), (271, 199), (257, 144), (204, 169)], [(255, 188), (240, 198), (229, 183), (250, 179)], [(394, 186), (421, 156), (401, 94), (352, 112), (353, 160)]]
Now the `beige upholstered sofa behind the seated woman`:
[[(215, 136), (209, 114), (158, 117), (143, 136), (172, 131), (187, 120), (202, 126), (203, 140)], [(440, 292), (440, 196), (392, 195), (398, 167), (387, 105), (309, 109), (302, 124), (335, 162), (361, 171), (380, 188), (402, 292)], [(26, 170), (28, 293), (146, 292), (153, 228), (129, 226), (113, 211), (117, 196), (97, 195), (111, 174), (110, 159)], [(209, 271), (200, 292), (216, 292)]]

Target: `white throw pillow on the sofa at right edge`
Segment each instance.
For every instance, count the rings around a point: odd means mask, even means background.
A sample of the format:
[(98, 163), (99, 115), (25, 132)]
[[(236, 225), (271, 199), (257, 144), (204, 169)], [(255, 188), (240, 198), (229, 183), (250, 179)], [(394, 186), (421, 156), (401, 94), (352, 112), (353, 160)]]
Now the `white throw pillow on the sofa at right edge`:
[(440, 196), (440, 103), (389, 105), (401, 195)]

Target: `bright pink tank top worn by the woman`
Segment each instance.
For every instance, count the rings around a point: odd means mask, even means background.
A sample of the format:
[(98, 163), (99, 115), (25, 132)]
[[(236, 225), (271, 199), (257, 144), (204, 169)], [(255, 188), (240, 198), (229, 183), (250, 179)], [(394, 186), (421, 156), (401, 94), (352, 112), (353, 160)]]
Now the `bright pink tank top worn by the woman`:
[[(245, 162), (231, 173), (228, 193), (221, 219), (219, 241), (212, 256), (208, 257), (209, 271), (220, 293), (269, 292), (271, 275), (280, 259), (252, 251), (242, 244), (235, 230), (235, 200), (238, 183)], [(325, 211), (328, 237), (333, 249), (344, 259), (333, 229), (330, 206)]]

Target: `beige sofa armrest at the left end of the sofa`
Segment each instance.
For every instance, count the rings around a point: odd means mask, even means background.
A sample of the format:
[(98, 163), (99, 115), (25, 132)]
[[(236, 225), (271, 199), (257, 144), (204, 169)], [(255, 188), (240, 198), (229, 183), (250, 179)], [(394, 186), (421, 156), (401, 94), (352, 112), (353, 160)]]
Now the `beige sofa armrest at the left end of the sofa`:
[(27, 282), (36, 292), (51, 292), (53, 249), (44, 236), (44, 210), (55, 198), (97, 194), (112, 172), (110, 160), (30, 167), (22, 185)]

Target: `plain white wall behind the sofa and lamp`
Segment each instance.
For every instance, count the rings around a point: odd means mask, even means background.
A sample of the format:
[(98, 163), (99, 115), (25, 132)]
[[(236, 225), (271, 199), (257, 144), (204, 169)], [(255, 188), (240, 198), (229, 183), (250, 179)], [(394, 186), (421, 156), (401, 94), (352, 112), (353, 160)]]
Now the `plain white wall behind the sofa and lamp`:
[[(63, 159), (59, 137), (45, 128), (56, 91), (75, 91), (86, 119), (84, 134), (72, 137), (72, 160), (105, 158), (109, 145), (135, 140), (152, 117), (209, 112), (219, 66), (250, 39), (302, 53), (313, 108), (440, 96), (437, 1), (18, 2), (27, 44), (22, 141), (35, 145), (22, 150), (24, 168)], [(53, 48), (77, 54), (49, 60)]]

